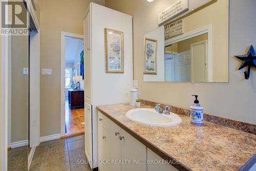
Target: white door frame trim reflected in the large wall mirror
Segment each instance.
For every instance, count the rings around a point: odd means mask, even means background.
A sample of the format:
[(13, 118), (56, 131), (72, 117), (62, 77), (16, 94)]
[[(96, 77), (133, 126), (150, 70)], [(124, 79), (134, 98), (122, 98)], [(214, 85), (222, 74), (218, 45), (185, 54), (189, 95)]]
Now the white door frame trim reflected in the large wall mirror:
[[(199, 36), (199, 35), (202, 35), (205, 33), (208, 33), (208, 45), (207, 45), (208, 81), (212, 82), (213, 81), (213, 76), (212, 76), (212, 74), (213, 74), (213, 72), (212, 72), (212, 70), (213, 70), (213, 67), (212, 67), (212, 24), (207, 25), (207, 26), (202, 27), (197, 30), (190, 31), (186, 34), (182, 34), (180, 36), (165, 40), (164, 46), (172, 45), (172, 44), (175, 44), (176, 42), (186, 40), (188, 38), (196, 37), (196, 36)], [(193, 80), (191, 80), (191, 82), (193, 82)]]

